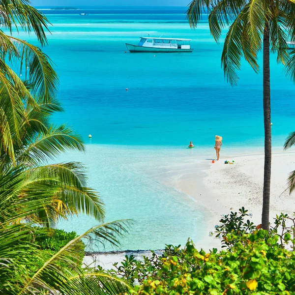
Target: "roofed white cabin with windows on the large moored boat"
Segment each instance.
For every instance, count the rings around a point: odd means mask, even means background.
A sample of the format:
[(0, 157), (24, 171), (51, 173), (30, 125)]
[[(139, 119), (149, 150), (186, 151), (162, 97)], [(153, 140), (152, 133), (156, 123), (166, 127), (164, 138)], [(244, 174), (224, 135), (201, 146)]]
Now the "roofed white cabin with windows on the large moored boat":
[(190, 39), (141, 37), (138, 46), (170, 49), (190, 49)]

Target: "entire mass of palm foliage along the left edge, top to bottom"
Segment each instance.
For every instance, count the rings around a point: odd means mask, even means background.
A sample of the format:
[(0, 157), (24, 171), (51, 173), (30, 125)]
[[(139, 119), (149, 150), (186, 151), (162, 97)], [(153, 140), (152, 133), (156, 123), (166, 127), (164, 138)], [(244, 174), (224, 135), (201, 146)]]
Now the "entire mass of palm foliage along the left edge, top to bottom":
[(52, 164), (61, 152), (84, 146), (66, 125), (50, 122), (62, 111), (51, 60), (5, 33), (34, 32), (45, 45), (48, 25), (28, 0), (0, 0), (0, 294), (123, 293), (126, 283), (82, 268), (81, 259), (82, 239), (118, 245), (126, 221), (100, 224), (81, 236), (50, 229), (78, 212), (103, 221), (104, 208), (80, 163)]

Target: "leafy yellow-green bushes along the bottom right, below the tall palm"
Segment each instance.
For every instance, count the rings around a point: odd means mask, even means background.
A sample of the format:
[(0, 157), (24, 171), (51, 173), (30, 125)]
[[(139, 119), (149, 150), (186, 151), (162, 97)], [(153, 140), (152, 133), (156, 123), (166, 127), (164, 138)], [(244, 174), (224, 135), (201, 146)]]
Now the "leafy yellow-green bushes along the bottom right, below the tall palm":
[(244, 208), (223, 216), (215, 231), (227, 245), (220, 252), (198, 251), (189, 240), (183, 249), (167, 245), (161, 256), (153, 252), (144, 261), (126, 256), (113, 273), (138, 295), (295, 294), (295, 253), (286, 249), (295, 244), (295, 216), (277, 216), (270, 233), (255, 230), (248, 216)]

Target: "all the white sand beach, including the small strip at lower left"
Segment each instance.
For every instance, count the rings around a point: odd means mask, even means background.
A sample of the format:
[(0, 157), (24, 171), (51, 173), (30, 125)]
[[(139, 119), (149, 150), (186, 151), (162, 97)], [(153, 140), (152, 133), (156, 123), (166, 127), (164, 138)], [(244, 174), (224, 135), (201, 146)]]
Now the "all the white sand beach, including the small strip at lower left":
[[(263, 150), (261, 150), (263, 151)], [(235, 164), (224, 164), (225, 160)], [(222, 214), (237, 211), (241, 207), (253, 214), (252, 221), (261, 223), (263, 192), (264, 154), (239, 155), (238, 152), (221, 153), (219, 161), (201, 163), (182, 163), (174, 165), (162, 174), (162, 181), (193, 198), (204, 211), (206, 228), (202, 231), (202, 240), (194, 240), (197, 248), (220, 248), (218, 239), (209, 236), (219, 223)], [(295, 170), (295, 152), (276, 150), (272, 155), (270, 220), (281, 212), (293, 214), (295, 211), (295, 193), (289, 195), (287, 178)], [(149, 252), (136, 253), (140, 258)], [(95, 260), (95, 264), (109, 268), (112, 263), (120, 262), (125, 255), (134, 253), (110, 253), (85, 257), (85, 263)]]

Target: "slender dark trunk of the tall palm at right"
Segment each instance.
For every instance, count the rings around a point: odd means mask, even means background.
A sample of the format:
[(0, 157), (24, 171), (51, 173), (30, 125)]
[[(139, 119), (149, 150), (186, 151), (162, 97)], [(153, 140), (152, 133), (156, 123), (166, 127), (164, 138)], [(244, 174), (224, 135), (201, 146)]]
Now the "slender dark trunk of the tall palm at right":
[(270, 69), (269, 26), (266, 23), (263, 36), (263, 112), (265, 127), (265, 167), (263, 184), (262, 228), (269, 230), (269, 200), (271, 176), (271, 120), (270, 120)]

